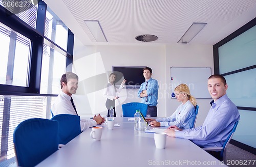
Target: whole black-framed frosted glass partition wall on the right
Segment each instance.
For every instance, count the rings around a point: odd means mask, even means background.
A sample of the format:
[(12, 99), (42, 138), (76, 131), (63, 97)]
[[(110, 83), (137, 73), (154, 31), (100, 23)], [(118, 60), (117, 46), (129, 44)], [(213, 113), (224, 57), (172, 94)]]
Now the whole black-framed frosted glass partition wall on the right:
[(214, 45), (215, 73), (225, 76), (227, 95), (240, 121), (230, 143), (256, 154), (256, 18)]

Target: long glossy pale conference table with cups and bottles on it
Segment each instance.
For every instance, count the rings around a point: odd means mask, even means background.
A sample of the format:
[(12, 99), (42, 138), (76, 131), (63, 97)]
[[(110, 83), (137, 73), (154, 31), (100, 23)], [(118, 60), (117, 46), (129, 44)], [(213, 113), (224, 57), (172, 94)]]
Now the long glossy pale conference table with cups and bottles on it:
[(167, 136), (165, 149), (157, 149), (154, 133), (135, 131), (127, 117), (115, 123), (113, 130), (103, 127), (100, 141), (89, 128), (37, 166), (226, 166), (189, 140)]

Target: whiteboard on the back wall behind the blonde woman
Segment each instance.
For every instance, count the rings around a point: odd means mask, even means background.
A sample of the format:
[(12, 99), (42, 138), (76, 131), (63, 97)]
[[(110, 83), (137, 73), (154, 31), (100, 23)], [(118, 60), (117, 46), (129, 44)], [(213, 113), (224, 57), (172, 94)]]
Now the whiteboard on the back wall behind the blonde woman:
[[(171, 95), (180, 84), (186, 84), (190, 94), (195, 98), (211, 98), (207, 89), (207, 80), (211, 75), (211, 68), (171, 67), (170, 87)], [(172, 98), (175, 98), (171, 96)]]

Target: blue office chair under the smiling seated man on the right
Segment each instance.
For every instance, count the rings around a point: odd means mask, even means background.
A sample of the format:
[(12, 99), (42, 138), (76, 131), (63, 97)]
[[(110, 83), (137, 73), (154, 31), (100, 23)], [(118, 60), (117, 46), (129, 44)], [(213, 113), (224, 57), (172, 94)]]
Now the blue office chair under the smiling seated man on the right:
[(233, 129), (229, 133), (229, 135), (228, 135), (226, 141), (224, 142), (224, 144), (222, 145), (222, 147), (206, 147), (206, 148), (203, 148), (203, 150), (205, 150), (207, 152), (209, 152), (209, 151), (219, 151), (220, 152), (220, 159), (219, 160), (221, 160), (221, 161), (225, 160), (226, 159), (227, 144), (231, 140), (232, 135), (234, 134), (234, 131), (236, 131), (237, 126), (238, 126), (238, 121), (236, 123), (234, 123)]

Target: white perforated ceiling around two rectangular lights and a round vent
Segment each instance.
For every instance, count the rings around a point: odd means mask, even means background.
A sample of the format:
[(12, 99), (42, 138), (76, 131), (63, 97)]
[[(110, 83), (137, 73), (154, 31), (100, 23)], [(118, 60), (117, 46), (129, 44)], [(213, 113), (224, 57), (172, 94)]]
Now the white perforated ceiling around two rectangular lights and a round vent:
[[(175, 44), (193, 22), (205, 27), (188, 44), (214, 45), (256, 17), (256, 0), (45, 0), (85, 45)], [(96, 42), (84, 20), (98, 20)], [(158, 36), (140, 42), (138, 35)]]

